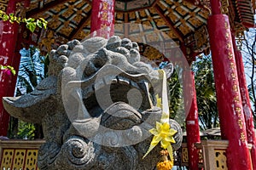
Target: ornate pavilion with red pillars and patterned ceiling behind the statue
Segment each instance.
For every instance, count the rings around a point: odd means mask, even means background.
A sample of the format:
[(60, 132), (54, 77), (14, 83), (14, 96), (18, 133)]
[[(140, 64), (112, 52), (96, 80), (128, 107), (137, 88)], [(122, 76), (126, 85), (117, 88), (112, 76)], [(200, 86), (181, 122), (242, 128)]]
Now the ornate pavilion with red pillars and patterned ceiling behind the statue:
[[(241, 59), (243, 31), (255, 27), (254, 0), (2, 0), (0, 9), (21, 17), (44, 18), (47, 30), (33, 33), (25, 26), (0, 21), (0, 64), (19, 68), (22, 47), (38, 46), (49, 52), (73, 39), (90, 36), (132, 37), (140, 53), (159, 64), (178, 62), (177, 48), (191, 65), (196, 56), (212, 52), (222, 139), (229, 141), (229, 169), (256, 168), (256, 139)], [(154, 47), (159, 48), (153, 48)], [(162, 45), (167, 51), (160, 53)], [(192, 77), (184, 93), (193, 94), (186, 106), (189, 168), (198, 169), (200, 143)], [(12, 96), (16, 77), (0, 72), (0, 98)], [(0, 104), (0, 136), (7, 134), (9, 115)], [(248, 144), (252, 149), (248, 150)], [(236, 150), (234, 150), (236, 149)]]

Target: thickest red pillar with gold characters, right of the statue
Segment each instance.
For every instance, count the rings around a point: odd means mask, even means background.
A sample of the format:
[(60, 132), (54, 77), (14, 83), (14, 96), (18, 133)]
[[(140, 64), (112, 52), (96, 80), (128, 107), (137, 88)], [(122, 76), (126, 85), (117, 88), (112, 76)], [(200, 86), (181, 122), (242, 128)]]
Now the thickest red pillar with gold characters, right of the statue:
[(228, 167), (232, 170), (252, 169), (228, 16), (210, 16), (208, 31), (222, 139), (229, 140)]

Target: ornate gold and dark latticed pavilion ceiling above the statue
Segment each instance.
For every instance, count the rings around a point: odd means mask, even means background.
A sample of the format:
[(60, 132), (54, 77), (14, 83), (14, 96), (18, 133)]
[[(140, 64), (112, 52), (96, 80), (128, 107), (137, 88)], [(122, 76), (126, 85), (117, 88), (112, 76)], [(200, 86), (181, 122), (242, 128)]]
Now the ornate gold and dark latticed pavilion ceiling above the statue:
[[(232, 19), (237, 23), (254, 24), (253, 9), (249, 7), (243, 1), (230, 0)], [(134, 35), (143, 43), (171, 38), (178, 46), (185, 47), (187, 54), (199, 54), (209, 47), (207, 18), (210, 6), (207, 0), (116, 0), (115, 9), (117, 35)], [(248, 10), (251, 11), (248, 13)], [(48, 30), (52, 32), (45, 37), (57, 43), (87, 37), (90, 14), (90, 0), (31, 0), (26, 11), (26, 17), (42, 17), (49, 22)], [(131, 27), (134, 24), (134, 27), (125, 29), (124, 23), (130, 23)], [(152, 29), (158, 30), (157, 36), (152, 36)], [(148, 37), (140, 36), (147, 33)]]

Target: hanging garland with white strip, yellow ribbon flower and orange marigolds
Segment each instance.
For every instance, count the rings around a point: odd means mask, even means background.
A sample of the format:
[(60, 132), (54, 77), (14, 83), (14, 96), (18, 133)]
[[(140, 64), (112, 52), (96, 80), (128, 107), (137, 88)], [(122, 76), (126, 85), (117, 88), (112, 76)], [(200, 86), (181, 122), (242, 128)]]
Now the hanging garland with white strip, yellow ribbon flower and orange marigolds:
[[(147, 153), (154, 149), (154, 147), (160, 143), (163, 150), (160, 151), (161, 160), (157, 163), (158, 170), (170, 170), (173, 167), (173, 155), (172, 155), (172, 143), (175, 143), (173, 136), (177, 133), (176, 130), (170, 128), (169, 124), (169, 107), (167, 99), (167, 88), (166, 88), (166, 73), (163, 70), (159, 70), (160, 79), (162, 79), (162, 99), (157, 95), (157, 106), (162, 108), (162, 116), (160, 122), (156, 122), (156, 127), (149, 130), (154, 135)], [(170, 160), (168, 160), (168, 155)]]

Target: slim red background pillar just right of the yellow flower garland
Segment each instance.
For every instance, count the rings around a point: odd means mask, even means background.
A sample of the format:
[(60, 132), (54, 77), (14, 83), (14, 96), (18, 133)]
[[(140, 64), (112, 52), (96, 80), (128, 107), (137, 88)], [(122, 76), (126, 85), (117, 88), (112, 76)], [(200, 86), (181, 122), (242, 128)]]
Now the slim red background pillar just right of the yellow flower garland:
[[(195, 78), (193, 71), (184, 71), (183, 73), (183, 94), (185, 111), (189, 113), (186, 117), (186, 130), (187, 130), (187, 144), (189, 151), (189, 169), (199, 169), (199, 155), (198, 150), (195, 147), (196, 143), (200, 143), (200, 130), (198, 124), (198, 110), (196, 103), (196, 93), (195, 93)], [(190, 96), (188, 96), (190, 95)], [(189, 101), (192, 100), (192, 101)]]

